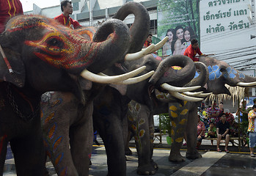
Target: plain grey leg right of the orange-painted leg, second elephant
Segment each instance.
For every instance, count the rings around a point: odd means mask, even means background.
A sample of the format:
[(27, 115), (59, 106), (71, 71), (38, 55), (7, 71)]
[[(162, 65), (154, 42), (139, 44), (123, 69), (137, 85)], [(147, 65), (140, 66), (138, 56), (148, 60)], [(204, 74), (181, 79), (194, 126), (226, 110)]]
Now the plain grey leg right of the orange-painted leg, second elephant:
[(76, 122), (78, 125), (70, 127), (70, 150), (79, 176), (89, 175), (93, 142), (92, 109), (93, 105), (90, 103), (81, 120)]

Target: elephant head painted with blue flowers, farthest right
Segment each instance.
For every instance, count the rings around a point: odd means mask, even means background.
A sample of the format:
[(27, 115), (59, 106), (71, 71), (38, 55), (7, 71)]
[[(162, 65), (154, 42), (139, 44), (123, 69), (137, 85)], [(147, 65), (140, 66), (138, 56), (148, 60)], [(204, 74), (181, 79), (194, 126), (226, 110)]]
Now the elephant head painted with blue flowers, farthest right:
[(241, 73), (228, 65), (227, 62), (219, 61), (210, 56), (201, 57), (200, 62), (203, 62), (208, 67), (208, 92), (230, 95), (230, 91), (224, 84), (228, 84), (231, 87), (250, 87), (255, 86), (256, 84), (255, 77), (246, 76), (244, 73)]

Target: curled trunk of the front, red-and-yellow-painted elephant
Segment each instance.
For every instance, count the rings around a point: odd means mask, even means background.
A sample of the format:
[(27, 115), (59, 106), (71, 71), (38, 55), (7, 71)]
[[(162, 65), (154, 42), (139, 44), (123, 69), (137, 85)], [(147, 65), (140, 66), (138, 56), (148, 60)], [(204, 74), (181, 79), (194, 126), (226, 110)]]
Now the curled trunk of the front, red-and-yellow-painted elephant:
[(97, 29), (92, 42), (82, 38), (78, 45), (81, 45), (79, 54), (84, 59), (81, 60), (81, 69), (75, 69), (76, 73), (85, 68), (99, 73), (125, 58), (130, 46), (129, 29), (122, 21), (112, 19)]

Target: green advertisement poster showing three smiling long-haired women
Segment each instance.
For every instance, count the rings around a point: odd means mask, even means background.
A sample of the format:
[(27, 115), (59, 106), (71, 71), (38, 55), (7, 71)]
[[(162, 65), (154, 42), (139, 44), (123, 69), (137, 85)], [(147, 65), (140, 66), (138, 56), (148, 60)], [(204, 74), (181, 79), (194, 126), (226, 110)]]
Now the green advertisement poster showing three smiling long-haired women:
[(183, 54), (192, 39), (200, 42), (198, 0), (159, 0), (158, 38), (168, 37), (159, 55)]

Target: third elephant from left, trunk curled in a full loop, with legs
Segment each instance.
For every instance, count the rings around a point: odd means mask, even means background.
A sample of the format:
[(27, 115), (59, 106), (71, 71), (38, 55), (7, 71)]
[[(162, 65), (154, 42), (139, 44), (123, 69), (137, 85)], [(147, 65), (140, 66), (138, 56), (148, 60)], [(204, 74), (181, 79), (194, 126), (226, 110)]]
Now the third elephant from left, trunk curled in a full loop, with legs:
[[(172, 56), (161, 61), (161, 58), (155, 54), (144, 56), (134, 62), (125, 62), (125, 64), (129, 70), (146, 65), (145, 72), (147, 69), (153, 69), (156, 70), (156, 74), (153, 74), (151, 82), (145, 80), (128, 85), (128, 87), (113, 86), (119, 92), (112, 87), (106, 87), (94, 101), (94, 127), (106, 147), (109, 173), (112, 173), (111, 175), (125, 175), (125, 142), (123, 139), (127, 138), (127, 134), (125, 135), (123, 132), (125, 132), (125, 126), (127, 127), (126, 114), (127, 111), (130, 111), (128, 120), (131, 124), (129, 126), (136, 134), (139, 158), (137, 172), (142, 175), (152, 175), (155, 174), (157, 168), (157, 164), (152, 160), (153, 110), (158, 106), (154, 90), (163, 90), (161, 85), (164, 83), (183, 86), (189, 79), (193, 78), (195, 67), (191, 59), (185, 56)], [(170, 68), (172, 65), (180, 65), (183, 69), (173, 70)], [(131, 103), (129, 103), (130, 101)], [(136, 121), (138, 117), (140, 120)], [(135, 131), (138, 129), (139, 133), (136, 133)]]

